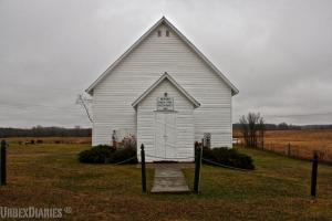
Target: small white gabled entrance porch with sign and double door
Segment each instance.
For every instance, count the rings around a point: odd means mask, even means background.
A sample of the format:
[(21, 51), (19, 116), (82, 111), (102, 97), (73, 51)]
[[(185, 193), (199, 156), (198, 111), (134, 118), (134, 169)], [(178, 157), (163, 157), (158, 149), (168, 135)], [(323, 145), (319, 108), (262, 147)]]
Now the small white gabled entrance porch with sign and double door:
[(133, 106), (137, 147), (144, 144), (146, 161), (194, 161), (194, 108), (199, 103), (173, 77), (162, 75)]

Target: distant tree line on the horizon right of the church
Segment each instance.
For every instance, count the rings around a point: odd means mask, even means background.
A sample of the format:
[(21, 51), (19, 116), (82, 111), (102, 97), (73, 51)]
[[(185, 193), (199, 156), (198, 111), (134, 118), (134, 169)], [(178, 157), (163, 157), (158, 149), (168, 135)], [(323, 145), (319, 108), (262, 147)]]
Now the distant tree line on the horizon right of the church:
[[(232, 125), (234, 129), (242, 129), (240, 123)], [(266, 130), (302, 130), (302, 129), (332, 129), (332, 125), (292, 125), (287, 123), (264, 124)]]

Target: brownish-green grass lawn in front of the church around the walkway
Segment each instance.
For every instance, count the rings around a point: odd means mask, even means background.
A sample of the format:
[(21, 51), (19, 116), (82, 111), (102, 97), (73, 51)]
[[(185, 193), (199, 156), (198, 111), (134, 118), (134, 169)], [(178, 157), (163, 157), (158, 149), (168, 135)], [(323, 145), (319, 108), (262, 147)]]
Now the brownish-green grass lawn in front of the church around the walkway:
[[(87, 145), (9, 148), (1, 207), (71, 207), (66, 220), (332, 220), (332, 167), (319, 166), (310, 197), (311, 164), (274, 154), (250, 155), (255, 171), (204, 166), (201, 194), (142, 194), (136, 166), (82, 165)], [(193, 189), (194, 169), (185, 171)], [(153, 170), (148, 169), (148, 188)]]

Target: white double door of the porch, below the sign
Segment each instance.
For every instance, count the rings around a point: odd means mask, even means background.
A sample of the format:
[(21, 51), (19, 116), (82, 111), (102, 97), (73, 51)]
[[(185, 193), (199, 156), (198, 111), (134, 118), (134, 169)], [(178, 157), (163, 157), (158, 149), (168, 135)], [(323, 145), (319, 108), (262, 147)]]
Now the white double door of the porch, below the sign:
[(155, 112), (156, 160), (176, 160), (176, 112)]

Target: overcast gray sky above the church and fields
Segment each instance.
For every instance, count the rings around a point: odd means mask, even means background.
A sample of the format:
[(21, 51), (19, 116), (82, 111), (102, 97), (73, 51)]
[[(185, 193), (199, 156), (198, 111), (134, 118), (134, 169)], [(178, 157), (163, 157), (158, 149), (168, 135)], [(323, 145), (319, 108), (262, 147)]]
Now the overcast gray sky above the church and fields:
[(91, 126), (76, 95), (163, 15), (240, 90), (235, 123), (332, 123), (330, 0), (0, 0), (0, 127)]

